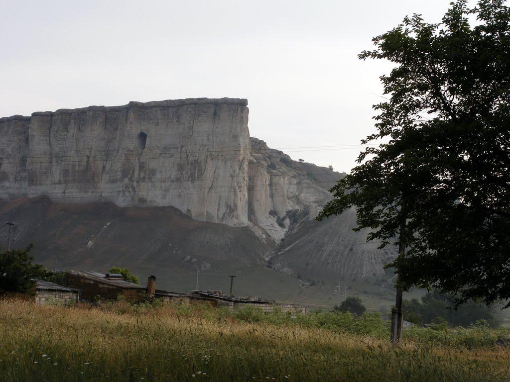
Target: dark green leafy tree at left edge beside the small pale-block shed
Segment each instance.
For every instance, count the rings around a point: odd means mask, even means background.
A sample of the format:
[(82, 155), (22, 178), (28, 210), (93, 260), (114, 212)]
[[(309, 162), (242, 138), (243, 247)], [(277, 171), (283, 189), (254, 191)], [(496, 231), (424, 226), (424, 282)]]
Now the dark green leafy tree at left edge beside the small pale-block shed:
[(50, 272), (40, 264), (33, 264), (33, 248), (30, 244), (24, 250), (0, 251), (0, 292), (28, 292), (35, 286), (36, 279), (45, 279)]

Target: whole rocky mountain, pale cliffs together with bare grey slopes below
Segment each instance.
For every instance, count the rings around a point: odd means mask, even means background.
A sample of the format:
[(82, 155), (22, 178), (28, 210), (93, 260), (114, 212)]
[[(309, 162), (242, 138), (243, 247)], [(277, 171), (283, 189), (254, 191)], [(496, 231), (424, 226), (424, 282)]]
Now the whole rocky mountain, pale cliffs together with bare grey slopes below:
[(352, 211), (313, 220), (345, 174), (268, 148), (247, 124), (247, 101), (230, 98), (1, 118), (0, 217), (40, 259), (66, 253), (64, 266), (271, 259), (294, 275), (381, 273), (390, 255), (351, 231)]

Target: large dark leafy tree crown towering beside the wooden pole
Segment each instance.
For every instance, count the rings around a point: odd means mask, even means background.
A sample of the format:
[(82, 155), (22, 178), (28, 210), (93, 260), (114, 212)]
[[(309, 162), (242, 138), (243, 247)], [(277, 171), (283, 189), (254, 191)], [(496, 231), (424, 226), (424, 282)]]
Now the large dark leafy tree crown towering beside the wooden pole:
[(318, 219), (355, 207), (355, 230), (405, 248), (387, 265), (397, 287), (490, 304), (510, 299), (510, 11), (450, 5), (441, 23), (406, 17), (360, 54), (395, 65), (362, 141), (387, 143), (360, 154)]

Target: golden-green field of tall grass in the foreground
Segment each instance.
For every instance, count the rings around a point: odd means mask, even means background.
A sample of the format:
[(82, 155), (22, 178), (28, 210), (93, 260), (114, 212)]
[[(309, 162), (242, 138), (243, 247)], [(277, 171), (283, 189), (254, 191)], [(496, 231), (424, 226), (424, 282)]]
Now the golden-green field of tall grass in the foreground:
[(490, 342), (440, 345), (415, 334), (391, 347), (377, 330), (346, 332), (334, 321), (314, 328), (316, 318), (289, 323), (283, 315), (268, 323), (257, 314), (1, 301), (0, 381), (510, 380), (510, 350)]

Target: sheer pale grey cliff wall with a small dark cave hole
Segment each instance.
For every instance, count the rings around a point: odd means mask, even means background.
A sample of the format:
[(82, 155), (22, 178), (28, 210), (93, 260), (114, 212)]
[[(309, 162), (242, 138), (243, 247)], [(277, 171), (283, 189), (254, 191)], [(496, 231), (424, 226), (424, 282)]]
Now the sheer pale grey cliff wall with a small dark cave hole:
[(246, 226), (246, 105), (198, 98), (2, 118), (0, 197), (173, 206)]

